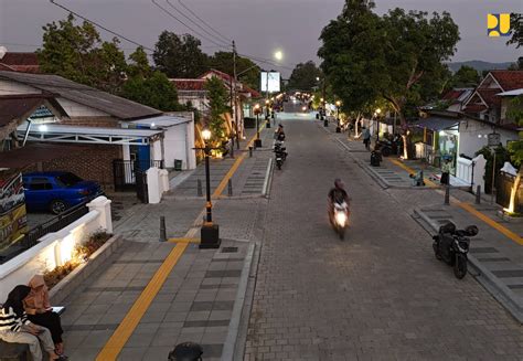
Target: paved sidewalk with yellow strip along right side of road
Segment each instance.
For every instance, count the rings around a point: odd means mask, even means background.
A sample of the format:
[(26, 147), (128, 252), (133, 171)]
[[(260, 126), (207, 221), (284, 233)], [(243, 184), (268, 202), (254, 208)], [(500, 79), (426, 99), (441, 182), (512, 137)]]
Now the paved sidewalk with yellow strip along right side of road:
[[(349, 140), (346, 135), (335, 134), (331, 125), (325, 130), (343, 144), (351, 157), (382, 188), (389, 189), (393, 194), (399, 197), (399, 201), (406, 202), (403, 206), (413, 209), (413, 216), (427, 232), (437, 233), (439, 226), (446, 222), (452, 222), (459, 229), (477, 225), (480, 232), (478, 236), (471, 238), (469, 253), (472, 275), (520, 322), (523, 322), (523, 220), (502, 219), (499, 215), (501, 206), (485, 202), (484, 198), (481, 204), (474, 204), (476, 197), (460, 189), (462, 184), (458, 182), (455, 183), (458, 184), (457, 188), (450, 191), (450, 204), (445, 205), (442, 190), (410, 185), (408, 174), (412, 170), (424, 169), (427, 178), (433, 167), (426, 167), (415, 160), (401, 161), (386, 158), (382, 167), (371, 167), (369, 152), (361, 141)], [(429, 180), (428, 185), (438, 187), (439, 183)]]

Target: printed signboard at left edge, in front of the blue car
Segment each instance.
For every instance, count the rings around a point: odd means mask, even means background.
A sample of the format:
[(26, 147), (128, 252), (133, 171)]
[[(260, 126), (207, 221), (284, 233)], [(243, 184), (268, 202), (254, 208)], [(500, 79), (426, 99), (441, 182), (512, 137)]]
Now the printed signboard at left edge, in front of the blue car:
[(28, 232), (22, 174), (0, 181), (0, 249), (21, 240)]

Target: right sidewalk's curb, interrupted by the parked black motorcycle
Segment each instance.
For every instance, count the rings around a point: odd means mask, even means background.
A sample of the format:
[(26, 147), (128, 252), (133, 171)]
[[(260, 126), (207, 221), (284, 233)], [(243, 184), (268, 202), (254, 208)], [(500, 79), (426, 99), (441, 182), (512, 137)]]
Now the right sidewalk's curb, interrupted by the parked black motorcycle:
[[(427, 225), (429, 225), (434, 232), (438, 232), (439, 225), (436, 225), (427, 214), (420, 210), (415, 209), (414, 213), (423, 219)], [(428, 230), (426, 230), (429, 232)], [(523, 323), (523, 308), (516, 301), (519, 297), (509, 288), (506, 285), (501, 283), (489, 269), (487, 269), (481, 262), (478, 261), (472, 254), (467, 255), (469, 264), (476, 270), (476, 274), (469, 273), (474, 277), (478, 283), (483, 286), (520, 323)]]

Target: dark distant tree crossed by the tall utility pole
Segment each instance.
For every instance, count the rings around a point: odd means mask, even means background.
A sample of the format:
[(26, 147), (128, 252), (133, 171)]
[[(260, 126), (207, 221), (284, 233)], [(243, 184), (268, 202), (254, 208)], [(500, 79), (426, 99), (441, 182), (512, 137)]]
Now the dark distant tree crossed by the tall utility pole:
[[(210, 67), (230, 75), (234, 75), (233, 53), (215, 52), (210, 59)], [(238, 81), (258, 91), (259, 72), (259, 66), (257, 66), (253, 61), (247, 57), (236, 55), (236, 74), (243, 73), (238, 76)]]

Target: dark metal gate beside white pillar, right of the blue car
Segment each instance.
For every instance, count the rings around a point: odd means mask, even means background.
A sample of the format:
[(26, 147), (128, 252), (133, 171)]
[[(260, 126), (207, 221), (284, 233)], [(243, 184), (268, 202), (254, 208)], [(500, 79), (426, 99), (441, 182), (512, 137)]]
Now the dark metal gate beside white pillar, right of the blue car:
[(157, 167), (163, 169), (162, 160), (150, 160), (150, 161), (139, 161), (139, 160), (122, 160), (114, 159), (113, 160), (113, 176), (115, 182), (116, 192), (131, 192), (137, 188), (136, 172), (140, 170), (146, 172), (150, 167)]

